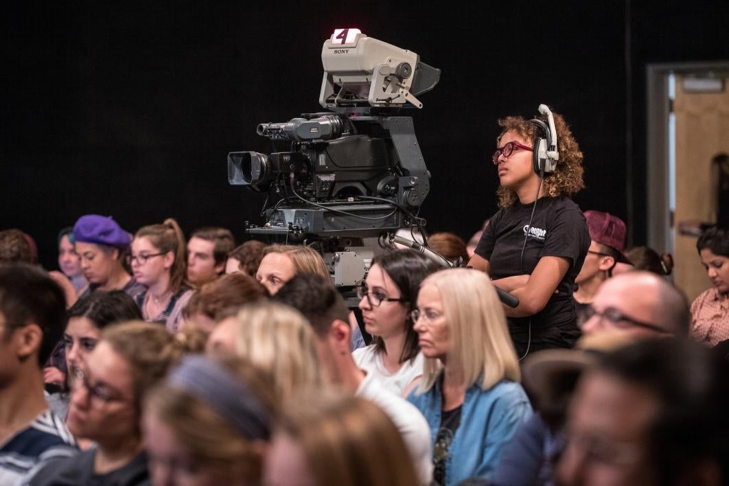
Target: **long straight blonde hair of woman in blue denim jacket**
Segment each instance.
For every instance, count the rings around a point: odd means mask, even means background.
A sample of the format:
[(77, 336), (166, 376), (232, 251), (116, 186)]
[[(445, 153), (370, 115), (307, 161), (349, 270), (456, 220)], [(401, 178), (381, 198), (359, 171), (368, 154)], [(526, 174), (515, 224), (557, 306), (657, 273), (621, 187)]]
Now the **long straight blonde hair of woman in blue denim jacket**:
[[(502, 303), (486, 274), (467, 268), (440, 270), (421, 288), (426, 285), (440, 291), (451, 340), (448, 360), (463, 367), (464, 385), (480, 380), (480, 387), (488, 390), (500, 380), (519, 381), (519, 361)], [(432, 388), (442, 368), (439, 359), (425, 359), (420, 393)]]

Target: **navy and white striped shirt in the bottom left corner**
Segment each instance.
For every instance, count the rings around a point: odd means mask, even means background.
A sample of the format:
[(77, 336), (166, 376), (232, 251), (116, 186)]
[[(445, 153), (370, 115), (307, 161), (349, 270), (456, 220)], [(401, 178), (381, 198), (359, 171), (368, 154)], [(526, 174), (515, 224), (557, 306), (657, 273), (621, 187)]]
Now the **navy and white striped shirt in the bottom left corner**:
[(0, 447), (0, 485), (24, 485), (47, 461), (78, 452), (63, 420), (47, 409)]

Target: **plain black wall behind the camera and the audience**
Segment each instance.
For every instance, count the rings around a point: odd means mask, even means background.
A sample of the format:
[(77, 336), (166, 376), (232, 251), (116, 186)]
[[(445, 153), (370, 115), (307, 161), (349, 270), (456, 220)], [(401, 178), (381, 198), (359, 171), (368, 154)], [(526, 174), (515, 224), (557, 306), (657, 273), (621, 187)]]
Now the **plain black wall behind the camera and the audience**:
[(173, 216), (186, 232), (242, 238), (263, 200), (228, 186), (226, 154), (268, 152), (258, 123), (319, 109), (335, 27), (443, 70), (410, 110), (432, 173), (430, 232), (468, 238), (496, 211), (496, 120), (547, 103), (585, 154), (577, 203), (630, 211), (642, 243), (646, 63), (729, 58), (720, 1), (100, 3), (4, 15), (0, 227), (33, 235), (47, 267), (58, 230), (85, 213), (129, 231)]

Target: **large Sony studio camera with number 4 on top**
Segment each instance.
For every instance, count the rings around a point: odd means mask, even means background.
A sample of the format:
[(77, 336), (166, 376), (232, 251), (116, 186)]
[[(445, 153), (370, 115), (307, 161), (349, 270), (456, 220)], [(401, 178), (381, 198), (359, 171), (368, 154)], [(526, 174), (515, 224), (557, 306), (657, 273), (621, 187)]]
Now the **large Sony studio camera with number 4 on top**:
[(321, 62), (328, 111), (258, 125), (287, 150), (231, 152), (228, 181), (268, 192), (266, 222), (248, 225), (249, 235), (316, 245), (335, 284), (356, 285), (383, 239), (422, 222), (429, 172), (413, 119), (395, 115), (422, 108), (416, 96), (437, 85), (440, 70), (358, 29), (336, 29)]

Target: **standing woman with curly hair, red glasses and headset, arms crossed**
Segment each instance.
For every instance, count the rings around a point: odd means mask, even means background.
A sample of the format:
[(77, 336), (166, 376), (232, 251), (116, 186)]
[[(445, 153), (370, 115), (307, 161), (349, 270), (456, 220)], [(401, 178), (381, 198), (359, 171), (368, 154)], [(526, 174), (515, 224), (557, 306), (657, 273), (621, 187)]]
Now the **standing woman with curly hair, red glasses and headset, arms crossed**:
[[(582, 152), (559, 114), (553, 114), (553, 136), (547, 111), (537, 119), (499, 120), (502, 133), (492, 160), (499, 174), (500, 209), (469, 262), (518, 297), (518, 307), (504, 306), (504, 312), (519, 356), (569, 348), (580, 335), (572, 286), (590, 235), (571, 197), (584, 187)], [(539, 170), (547, 155), (534, 152), (544, 138), (556, 138), (558, 158), (551, 172)]]

